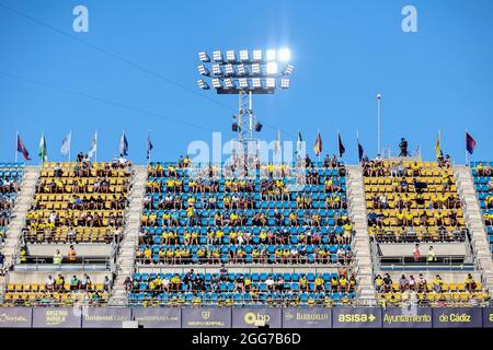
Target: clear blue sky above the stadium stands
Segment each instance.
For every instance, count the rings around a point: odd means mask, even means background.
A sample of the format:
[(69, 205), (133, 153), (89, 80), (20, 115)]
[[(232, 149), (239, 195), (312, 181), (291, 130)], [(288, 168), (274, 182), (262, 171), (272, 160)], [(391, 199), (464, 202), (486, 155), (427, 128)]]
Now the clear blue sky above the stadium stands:
[[(78, 4), (89, 9), (89, 33), (72, 31)], [(417, 9), (417, 33), (401, 30), (405, 4)], [(491, 160), (492, 13), (489, 0), (0, 0), (0, 160), (13, 160), (16, 130), (32, 163), (42, 131), (49, 159), (61, 160), (70, 129), (72, 154), (98, 129), (99, 160), (108, 160), (125, 129), (129, 158), (144, 163), (151, 130), (153, 159), (174, 160), (213, 130), (231, 136), (237, 100), (196, 86), (197, 52), (284, 46), (291, 89), (254, 100), (263, 139), (280, 128), (296, 140), (300, 129), (311, 149), (320, 129), (334, 153), (339, 129), (355, 162), (359, 130), (375, 156), (380, 92), (385, 145), (405, 137), (432, 160), (440, 129), (444, 152), (463, 163), (467, 129), (478, 141), (472, 159)]]

